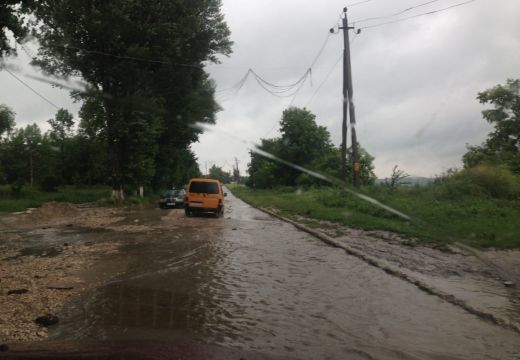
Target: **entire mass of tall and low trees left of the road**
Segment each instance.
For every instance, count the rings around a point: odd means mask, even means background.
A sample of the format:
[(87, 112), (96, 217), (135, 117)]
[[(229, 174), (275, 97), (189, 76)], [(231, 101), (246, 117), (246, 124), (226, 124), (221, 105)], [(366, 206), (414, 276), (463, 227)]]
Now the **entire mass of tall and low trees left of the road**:
[[(201, 130), (194, 124), (214, 123), (219, 110), (204, 64), (231, 53), (220, 0), (7, 1), (0, 8), (18, 41), (29, 33), (38, 40), (33, 65), (85, 82), (72, 86), (82, 103), (76, 132), (63, 112), (46, 134), (35, 125), (4, 131), (2, 181), (109, 183), (120, 201), (125, 189), (196, 175), (189, 147)], [(1, 54), (13, 53), (1, 35)]]

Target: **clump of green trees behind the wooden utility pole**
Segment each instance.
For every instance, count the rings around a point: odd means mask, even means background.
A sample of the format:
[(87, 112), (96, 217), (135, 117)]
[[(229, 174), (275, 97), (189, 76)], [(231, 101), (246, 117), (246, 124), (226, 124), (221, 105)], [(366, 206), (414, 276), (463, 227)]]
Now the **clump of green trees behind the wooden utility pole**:
[[(341, 151), (332, 144), (328, 130), (316, 124), (316, 116), (310, 111), (296, 107), (285, 110), (280, 120), (280, 133), (280, 137), (262, 139), (260, 150), (270, 157), (283, 159), (329, 177), (340, 178)], [(249, 178), (246, 183), (249, 187), (330, 185), (294, 167), (274, 161), (258, 151), (251, 151), (250, 155)], [(366, 150), (360, 148), (360, 176), (364, 185), (375, 182), (373, 160)], [(347, 162), (352, 164), (351, 149), (347, 151)], [(347, 176), (351, 181), (351, 166), (347, 169)]]

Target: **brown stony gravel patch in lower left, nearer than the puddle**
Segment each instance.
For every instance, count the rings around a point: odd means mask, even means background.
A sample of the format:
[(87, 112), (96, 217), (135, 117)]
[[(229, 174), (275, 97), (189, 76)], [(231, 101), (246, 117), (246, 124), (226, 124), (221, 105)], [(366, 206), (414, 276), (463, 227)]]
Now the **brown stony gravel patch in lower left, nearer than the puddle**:
[[(64, 302), (103, 283), (105, 279), (86, 283), (81, 273), (99, 257), (117, 252), (117, 247), (113, 242), (78, 243), (55, 252), (38, 247), (0, 248), (4, 255), (0, 263), (0, 343), (46, 338), (48, 329), (34, 320), (58, 313)], [(27, 291), (13, 293), (13, 289)]]

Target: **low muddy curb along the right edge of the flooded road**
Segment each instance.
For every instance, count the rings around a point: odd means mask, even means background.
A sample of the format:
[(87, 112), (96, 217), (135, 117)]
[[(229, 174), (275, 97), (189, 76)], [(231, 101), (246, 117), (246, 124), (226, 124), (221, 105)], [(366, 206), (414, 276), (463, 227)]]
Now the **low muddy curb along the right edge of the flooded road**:
[(383, 270), (384, 272), (386, 272), (387, 274), (389, 275), (392, 275), (392, 276), (395, 276), (395, 277), (398, 277), (404, 281), (407, 281), (409, 282), (410, 284), (413, 284), (415, 285), (417, 288), (419, 288), (420, 290), (430, 294), (430, 295), (434, 295), (434, 296), (437, 296), (439, 297), (440, 299), (446, 301), (446, 302), (449, 302), (450, 304), (452, 305), (455, 305), (455, 306), (458, 306), (460, 308), (462, 308), (463, 310), (469, 312), (470, 314), (473, 314), (477, 317), (479, 317), (480, 319), (482, 320), (485, 320), (485, 321), (488, 321), (488, 322), (491, 322), (495, 325), (498, 325), (498, 326), (501, 326), (503, 328), (506, 328), (506, 329), (510, 329), (510, 330), (513, 330), (517, 333), (520, 334), (520, 324), (517, 324), (515, 322), (512, 322), (510, 321), (509, 319), (506, 319), (506, 318), (503, 318), (501, 316), (498, 316), (496, 314), (492, 314), (492, 313), (489, 313), (489, 312), (486, 312), (486, 311), (483, 311), (483, 310), (480, 310), (470, 304), (468, 304), (466, 301), (464, 300), (461, 300), (461, 299), (458, 299), (456, 296), (452, 295), (452, 294), (448, 294), (442, 290), (439, 290), (438, 288), (434, 287), (434, 286), (431, 286), (429, 284), (427, 284), (426, 282), (422, 281), (422, 280), (419, 280), (413, 276), (410, 276), (409, 274), (406, 274), (405, 272), (403, 272), (402, 270), (400, 270), (398, 267), (396, 266), (393, 266), (393, 265), (390, 265), (384, 261), (381, 261), (380, 259), (377, 259), (373, 256), (370, 256), (370, 255), (367, 255), (366, 253), (363, 253), (362, 251), (359, 251), (357, 249), (354, 249), (346, 244), (342, 244), (336, 240), (334, 240), (333, 238), (319, 232), (319, 231), (316, 231), (316, 230), (313, 230), (311, 228), (308, 228), (307, 226), (305, 225), (302, 225), (300, 223), (297, 223), (291, 219), (288, 219), (284, 216), (281, 216), (271, 210), (268, 210), (266, 208), (262, 208), (262, 207), (256, 207), (254, 206), (253, 204), (250, 204), (248, 203), (248, 205), (268, 214), (268, 215), (271, 215), (277, 219), (280, 219), (284, 222), (287, 222), (291, 225), (293, 225), (294, 227), (296, 227), (297, 229), (301, 230), (301, 231), (304, 231), (316, 238), (318, 238), (319, 240), (323, 241), (324, 243), (326, 243), (327, 245), (330, 245), (330, 246), (333, 246), (333, 247), (336, 247), (336, 248), (340, 248), (340, 249), (343, 249), (345, 250), (345, 252), (347, 252), (347, 254), (349, 255), (352, 255), (352, 256), (355, 256), (361, 260), (363, 260), (364, 262), (366, 262), (367, 264), (369, 265), (372, 265), (374, 267), (377, 267), (381, 270)]

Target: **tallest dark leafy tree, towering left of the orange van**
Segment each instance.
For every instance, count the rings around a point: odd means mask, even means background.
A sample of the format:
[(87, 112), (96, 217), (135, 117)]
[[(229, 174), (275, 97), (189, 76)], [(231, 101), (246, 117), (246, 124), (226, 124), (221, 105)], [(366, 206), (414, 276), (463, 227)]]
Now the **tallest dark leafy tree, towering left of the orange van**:
[(42, 45), (35, 63), (92, 87), (76, 96), (97, 112), (89, 120), (106, 137), (114, 200), (124, 198), (125, 181), (164, 184), (176, 150), (198, 138), (190, 125), (214, 122), (218, 105), (203, 63), (231, 52), (220, 7), (220, 0), (32, 5)]

